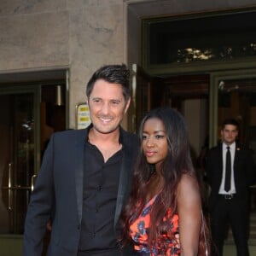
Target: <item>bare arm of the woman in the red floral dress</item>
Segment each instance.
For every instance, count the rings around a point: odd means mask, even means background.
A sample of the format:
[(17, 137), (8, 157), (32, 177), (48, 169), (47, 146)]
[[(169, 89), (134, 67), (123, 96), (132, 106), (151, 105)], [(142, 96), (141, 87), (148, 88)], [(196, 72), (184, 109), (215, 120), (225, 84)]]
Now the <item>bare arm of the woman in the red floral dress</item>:
[(179, 240), (182, 256), (197, 256), (201, 230), (201, 195), (195, 177), (184, 174), (177, 186)]

